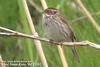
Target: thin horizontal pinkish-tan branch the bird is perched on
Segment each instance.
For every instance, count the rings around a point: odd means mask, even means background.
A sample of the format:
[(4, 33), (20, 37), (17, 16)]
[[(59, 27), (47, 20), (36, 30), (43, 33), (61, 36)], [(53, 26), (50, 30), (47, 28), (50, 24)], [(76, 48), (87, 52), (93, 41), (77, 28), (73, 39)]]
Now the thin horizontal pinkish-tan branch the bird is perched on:
[(20, 32), (14, 32), (14, 33), (4, 33), (0, 32), (0, 36), (13, 36), (13, 37), (21, 37), (21, 38), (29, 38), (29, 39), (35, 39), (35, 40), (40, 40), (56, 45), (63, 45), (63, 46), (89, 46), (92, 48), (96, 48), (100, 50), (100, 44), (96, 44), (90, 41), (80, 41), (80, 42), (55, 42), (55, 41), (50, 41), (46, 38), (41, 38), (41, 37), (36, 37), (34, 35), (28, 35), (28, 34), (23, 34)]

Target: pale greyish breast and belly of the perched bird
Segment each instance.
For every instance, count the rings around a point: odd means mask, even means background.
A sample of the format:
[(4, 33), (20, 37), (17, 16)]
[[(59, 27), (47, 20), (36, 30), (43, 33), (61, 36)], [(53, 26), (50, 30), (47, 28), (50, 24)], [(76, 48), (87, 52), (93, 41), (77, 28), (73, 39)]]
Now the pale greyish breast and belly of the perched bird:
[(53, 19), (52, 17), (44, 18), (44, 29), (48, 39), (54, 41), (66, 41), (69, 38), (64, 36), (64, 32), (62, 32), (62, 27), (58, 20)]

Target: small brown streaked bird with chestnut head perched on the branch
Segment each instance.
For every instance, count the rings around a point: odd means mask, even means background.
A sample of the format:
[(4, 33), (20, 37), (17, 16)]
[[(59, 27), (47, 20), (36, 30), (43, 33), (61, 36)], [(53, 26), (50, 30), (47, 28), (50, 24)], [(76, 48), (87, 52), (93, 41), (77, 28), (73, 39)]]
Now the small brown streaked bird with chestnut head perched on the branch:
[[(48, 39), (56, 42), (74, 42), (75, 35), (68, 21), (55, 8), (47, 8), (44, 10), (44, 31)], [(72, 52), (75, 59), (80, 62), (79, 55), (72, 46)]]

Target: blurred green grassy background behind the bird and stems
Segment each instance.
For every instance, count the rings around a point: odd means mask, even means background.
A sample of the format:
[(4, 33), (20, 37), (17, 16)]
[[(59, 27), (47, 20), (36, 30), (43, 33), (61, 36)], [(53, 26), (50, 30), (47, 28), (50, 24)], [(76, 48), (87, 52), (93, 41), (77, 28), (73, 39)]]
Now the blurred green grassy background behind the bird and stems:
[[(59, 8), (60, 13), (70, 21), (79, 41), (89, 40), (100, 43), (100, 34), (87, 18), (74, 21), (84, 16), (74, 0), (46, 0), (46, 2), (48, 7)], [(29, 0), (27, 0), (27, 3), (36, 31), (39, 36), (44, 37), (45, 33), (41, 22), (43, 11), (39, 11), (42, 10), (40, 0), (34, 0), (36, 7), (32, 6)], [(91, 14), (94, 14), (94, 19), (100, 25), (100, 15), (95, 15), (100, 11), (100, 0), (82, 0), (82, 3)], [(39, 8), (39, 10), (36, 8)], [(31, 34), (21, 0), (0, 0), (0, 26)], [(3, 30), (0, 30), (0, 32), (3, 32)], [(57, 47), (55, 45), (44, 45), (49, 43), (42, 42), (42, 44), (49, 67), (62, 67)], [(73, 58), (70, 48), (65, 46), (65, 56), (69, 67), (100, 67), (100, 50), (87, 46), (77, 47), (77, 50), (81, 60), (79, 64)], [(33, 63), (41, 63), (33, 41), (25, 38), (0, 36), (0, 55), (4, 61), (27, 60), (33, 61)], [(34, 67), (42, 67), (42, 65)]]

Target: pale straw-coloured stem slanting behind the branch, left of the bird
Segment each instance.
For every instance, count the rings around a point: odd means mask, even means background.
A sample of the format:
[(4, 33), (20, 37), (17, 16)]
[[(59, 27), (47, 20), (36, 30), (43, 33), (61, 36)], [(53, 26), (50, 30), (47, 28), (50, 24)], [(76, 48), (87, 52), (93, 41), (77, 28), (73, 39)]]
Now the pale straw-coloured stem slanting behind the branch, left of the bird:
[[(31, 29), (31, 32), (34, 36), (38, 37), (38, 33), (35, 31), (35, 27), (33, 25), (33, 21), (32, 21), (31, 15), (29, 13), (29, 9), (28, 9), (26, 0), (22, 0), (22, 1), (23, 1), (24, 9), (25, 9), (25, 12), (26, 12), (26, 16), (27, 16), (27, 19), (28, 19), (28, 23), (29, 23), (29, 27)], [(42, 49), (42, 46), (41, 46), (41, 42), (39, 40), (34, 40), (34, 42), (35, 42), (35, 46), (36, 46), (38, 55), (39, 55), (41, 62), (43, 64), (43, 67), (48, 67), (48, 64), (47, 64), (47, 61), (46, 61), (46, 58), (45, 58), (45, 55), (44, 55), (44, 52), (43, 52), (43, 49)]]

